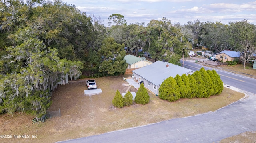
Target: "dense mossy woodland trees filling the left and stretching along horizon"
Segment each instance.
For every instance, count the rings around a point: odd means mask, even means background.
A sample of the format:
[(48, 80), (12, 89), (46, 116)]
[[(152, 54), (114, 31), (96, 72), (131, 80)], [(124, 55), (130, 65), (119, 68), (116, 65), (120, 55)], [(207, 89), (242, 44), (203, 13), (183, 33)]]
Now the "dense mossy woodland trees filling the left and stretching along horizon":
[[(247, 20), (172, 24), (167, 18), (127, 24), (121, 14), (88, 16), (74, 5), (53, 1), (0, 1), (0, 113), (28, 112), (43, 120), (58, 81), (68, 74), (114, 76), (126, 52), (146, 52), (155, 61), (178, 64), (183, 49), (206, 45), (215, 53), (255, 51), (255, 25)], [(127, 50), (124, 51), (124, 48)], [(185, 55), (185, 57), (188, 55)]]

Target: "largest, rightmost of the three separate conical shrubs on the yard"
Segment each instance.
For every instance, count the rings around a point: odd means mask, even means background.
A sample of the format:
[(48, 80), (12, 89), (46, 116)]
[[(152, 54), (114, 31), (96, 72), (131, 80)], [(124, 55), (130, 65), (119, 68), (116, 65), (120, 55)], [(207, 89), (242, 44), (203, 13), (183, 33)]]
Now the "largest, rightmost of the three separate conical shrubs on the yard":
[(144, 87), (144, 84), (140, 84), (140, 88), (136, 93), (134, 100), (135, 100), (135, 103), (143, 104), (143, 105), (149, 102), (149, 95), (146, 88)]

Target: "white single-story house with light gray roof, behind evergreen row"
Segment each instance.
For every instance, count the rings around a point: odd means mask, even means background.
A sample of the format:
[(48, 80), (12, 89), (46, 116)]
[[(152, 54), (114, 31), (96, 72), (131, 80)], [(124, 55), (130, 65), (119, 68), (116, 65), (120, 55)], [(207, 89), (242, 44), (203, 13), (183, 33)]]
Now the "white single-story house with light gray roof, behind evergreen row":
[(174, 65), (172, 63), (156, 61), (151, 65), (142, 67), (132, 71), (132, 75), (136, 78), (138, 83), (144, 83), (144, 87), (148, 88), (154, 94), (158, 95), (159, 87), (162, 82), (168, 77), (172, 76), (173, 78), (179, 74), (193, 74), (194, 71)]

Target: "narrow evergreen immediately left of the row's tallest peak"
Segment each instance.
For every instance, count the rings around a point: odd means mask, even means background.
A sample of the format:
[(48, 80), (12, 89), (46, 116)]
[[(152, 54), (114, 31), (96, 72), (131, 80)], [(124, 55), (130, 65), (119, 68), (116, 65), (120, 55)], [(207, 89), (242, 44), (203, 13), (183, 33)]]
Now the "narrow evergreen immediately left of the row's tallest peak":
[(198, 92), (196, 94), (196, 97), (198, 98), (203, 98), (204, 94), (206, 94), (205, 86), (204, 86), (204, 81), (202, 80), (201, 74), (199, 71), (196, 71), (192, 74), (192, 76), (196, 80), (196, 85), (198, 87)]

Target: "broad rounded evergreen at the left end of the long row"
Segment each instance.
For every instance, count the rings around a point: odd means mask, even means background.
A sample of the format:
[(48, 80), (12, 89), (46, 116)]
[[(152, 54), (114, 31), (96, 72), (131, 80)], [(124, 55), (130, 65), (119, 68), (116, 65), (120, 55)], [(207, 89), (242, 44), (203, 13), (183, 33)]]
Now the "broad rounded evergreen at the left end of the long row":
[(159, 98), (169, 102), (180, 99), (179, 87), (173, 77), (169, 77), (159, 88)]

